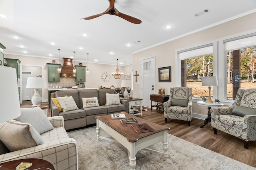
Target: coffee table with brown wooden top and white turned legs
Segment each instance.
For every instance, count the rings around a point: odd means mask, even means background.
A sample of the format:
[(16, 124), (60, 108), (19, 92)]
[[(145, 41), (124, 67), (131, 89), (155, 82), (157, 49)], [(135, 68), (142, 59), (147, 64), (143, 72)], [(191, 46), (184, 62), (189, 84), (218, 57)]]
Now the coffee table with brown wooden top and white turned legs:
[[(169, 127), (164, 127), (162, 125), (158, 125), (156, 123), (152, 123), (140, 117), (136, 117), (134, 115), (130, 115), (128, 113), (122, 112), (125, 114), (126, 118), (135, 118), (138, 123), (128, 123), (122, 124), (120, 119), (111, 119), (111, 115), (103, 115), (96, 116), (96, 134), (97, 140), (104, 139), (107, 141), (120, 143), (128, 150), (128, 156), (130, 160), (130, 169), (134, 170), (136, 166), (136, 153), (139, 150), (147, 150), (150, 152), (158, 153), (164, 156), (164, 158), (168, 157), (167, 149), (168, 149), (168, 141), (167, 134)], [(140, 124), (147, 123), (150, 127), (152, 127), (155, 131), (137, 133), (133, 128), (132, 124)], [(111, 135), (114, 139), (109, 139), (106, 137), (100, 136), (100, 128), (106, 131), (109, 135)], [(163, 143), (163, 151), (149, 149), (150, 145), (158, 143), (162, 141)]]

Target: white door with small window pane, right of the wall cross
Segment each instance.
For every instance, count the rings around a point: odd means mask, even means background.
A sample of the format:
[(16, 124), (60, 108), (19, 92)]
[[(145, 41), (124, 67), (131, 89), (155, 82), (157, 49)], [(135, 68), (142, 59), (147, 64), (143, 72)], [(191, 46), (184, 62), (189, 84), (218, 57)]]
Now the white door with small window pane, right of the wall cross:
[(151, 107), (150, 94), (155, 94), (156, 90), (156, 66), (155, 57), (150, 56), (140, 60), (141, 83), (140, 91), (143, 106)]

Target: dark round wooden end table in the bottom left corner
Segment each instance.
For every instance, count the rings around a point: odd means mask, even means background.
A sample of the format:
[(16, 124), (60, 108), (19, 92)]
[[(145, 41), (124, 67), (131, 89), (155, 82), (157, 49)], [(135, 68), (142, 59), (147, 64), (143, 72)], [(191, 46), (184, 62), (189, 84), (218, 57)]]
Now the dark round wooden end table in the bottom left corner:
[(47, 160), (43, 159), (35, 159), (35, 158), (30, 158), (30, 159), (19, 159), (19, 160), (12, 160), (9, 162), (4, 162), (0, 164), (0, 169), (1, 170), (24, 170), (24, 164), (21, 163), (30, 163), (26, 164), (26, 168), (28, 169), (40, 169), (40, 170), (55, 170), (54, 166), (48, 162)]

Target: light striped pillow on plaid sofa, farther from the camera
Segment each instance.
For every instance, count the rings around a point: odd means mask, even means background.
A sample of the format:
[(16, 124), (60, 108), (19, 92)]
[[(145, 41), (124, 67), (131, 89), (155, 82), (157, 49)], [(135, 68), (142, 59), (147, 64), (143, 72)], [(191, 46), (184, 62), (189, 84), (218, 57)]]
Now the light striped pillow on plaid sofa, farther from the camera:
[(39, 134), (54, 129), (52, 123), (50, 123), (40, 107), (21, 108), (20, 112), (21, 115), (15, 120), (22, 123), (29, 123)]

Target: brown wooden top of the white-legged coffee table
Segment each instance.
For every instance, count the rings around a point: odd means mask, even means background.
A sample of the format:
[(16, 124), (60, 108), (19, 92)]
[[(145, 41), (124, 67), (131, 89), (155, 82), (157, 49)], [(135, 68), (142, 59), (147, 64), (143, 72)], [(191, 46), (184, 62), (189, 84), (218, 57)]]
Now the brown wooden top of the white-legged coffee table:
[[(102, 116), (96, 116), (97, 119), (101, 120), (103, 123), (107, 124), (109, 127), (123, 135), (124, 137), (127, 138), (129, 142), (136, 142), (140, 138), (152, 135), (154, 133), (158, 133), (160, 131), (164, 130), (169, 130), (170, 127), (165, 127), (162, 125), (158, 125), (156, 123), (152, 123), (150, 121), (147, 121), (145, 119), (142, 119), (140, 117), (136, 117), (134, 115), (130, 115), (126, 112), (121, 112), (124, 113), (126, 118), (135, 118), (138, 123), (127, 123), (127, 124), (122, 124), (120, 122), (120, 119), (111, 119), (111, 115), (102, 115)], [(144, 133), (137, 133), (131, 125), (134, 124), (140, 124), (140, 123), (147, 123), (150, 127), (152, 127), (155, 131), (152, 132), (144, 132)]]

